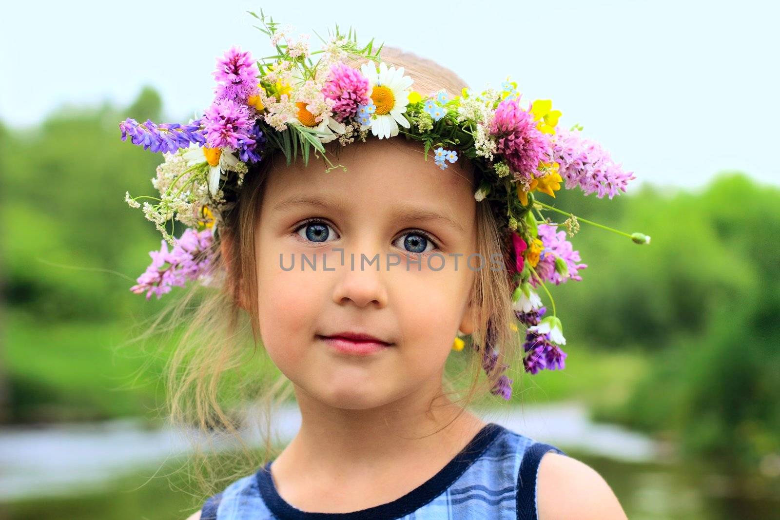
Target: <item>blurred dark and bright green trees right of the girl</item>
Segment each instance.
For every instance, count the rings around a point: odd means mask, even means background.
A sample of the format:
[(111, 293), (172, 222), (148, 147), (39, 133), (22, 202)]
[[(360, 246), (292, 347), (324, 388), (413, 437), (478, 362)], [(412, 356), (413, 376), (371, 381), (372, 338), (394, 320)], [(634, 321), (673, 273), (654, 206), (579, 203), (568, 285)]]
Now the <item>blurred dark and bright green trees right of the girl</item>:
[(582, 225), (573, 242), (591, 265), (555, 293), (569, 338), (647, 352), (647, 375), (597, 416), (665, 430), (684, 454), (726, 465), (778, 453), (780, 190), (730, 173), (700, 193), (645, 186), (611, 204), (573, 195), (560, 206), (652, 237), (633, 246)]

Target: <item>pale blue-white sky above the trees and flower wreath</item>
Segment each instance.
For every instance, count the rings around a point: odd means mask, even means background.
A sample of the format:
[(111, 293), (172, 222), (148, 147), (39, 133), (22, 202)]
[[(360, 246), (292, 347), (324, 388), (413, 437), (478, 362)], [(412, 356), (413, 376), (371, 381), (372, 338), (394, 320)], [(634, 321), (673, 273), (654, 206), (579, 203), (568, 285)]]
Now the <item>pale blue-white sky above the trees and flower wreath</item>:
[[(126, 105), (145, 84), (166, 121), (211, 101), (215, 59), (239, 44), (273, 54), (260, 11), (325, 37), (413, 51), (470, 87), (512, 76), (552, 99), (641, 181), (698, 187), (723, 170), (780, 186), (778, 2), (9, 2), (0, 31), (0, 120), (30, 126), (63, 104)], [(119, 124), (119, 122), (117, 122)], [(117, 128), (119, 139), (119, 128)], [(775, 151), (772, 151), (775, 150)], [(768, 160), (772, 159), (771, 161)]]

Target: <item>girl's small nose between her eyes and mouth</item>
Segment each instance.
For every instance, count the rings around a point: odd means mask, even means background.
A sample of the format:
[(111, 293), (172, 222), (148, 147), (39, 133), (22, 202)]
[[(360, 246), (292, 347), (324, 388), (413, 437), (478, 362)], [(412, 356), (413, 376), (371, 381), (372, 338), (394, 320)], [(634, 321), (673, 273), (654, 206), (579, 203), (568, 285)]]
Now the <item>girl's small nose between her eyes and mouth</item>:
[[(362, 250), (362, 248), (361, 248)], [(387, 255), (363, 253), (350, 249), (344, 251), (344, 265), (339, 265), (338, 280), (333, 288), (333, 301), (344, 305), (352, 301), (356, 306), (373, 304), (378, 308), (387, 306), (388, 292), (383, 271), (387, 269)], [(354, 257), (354, 262), (353, 262)], [(378, 267), (377, 267), (378, 266)]]

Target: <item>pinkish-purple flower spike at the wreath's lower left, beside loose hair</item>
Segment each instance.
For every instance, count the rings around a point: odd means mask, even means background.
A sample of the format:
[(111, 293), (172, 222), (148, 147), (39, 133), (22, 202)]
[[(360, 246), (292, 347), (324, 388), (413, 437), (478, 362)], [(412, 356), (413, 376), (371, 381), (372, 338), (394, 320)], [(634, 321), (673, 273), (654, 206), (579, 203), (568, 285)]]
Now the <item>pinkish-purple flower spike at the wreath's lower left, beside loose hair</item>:
[(187, 228), (175, 242), (171, 251), (168, 251), (168, 242), (161, 240), (160, 250), (149, 252), (151, 264), (138, 277), (138, 283), (130, 288), (131, 291), (146, 292), (147, 300), (153, 294), (160, 299), (161, 295), (171, 292), (174, 285), (184, 287), (187, 281), (207, 273), (211, 267), (211, 256), (207, 254), (213, 243), (211, 229), (197, 232)]

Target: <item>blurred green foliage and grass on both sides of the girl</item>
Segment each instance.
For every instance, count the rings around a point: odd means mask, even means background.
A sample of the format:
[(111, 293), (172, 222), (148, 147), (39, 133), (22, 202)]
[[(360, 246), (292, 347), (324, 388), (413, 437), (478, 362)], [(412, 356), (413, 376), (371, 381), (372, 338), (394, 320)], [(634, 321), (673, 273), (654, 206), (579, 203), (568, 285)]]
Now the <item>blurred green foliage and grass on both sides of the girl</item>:
[[(149, 261), (140, 252), (161, 238), (123, 200), (153, 192), (161, 157), (120, 141), (118, 127), (160, 113), (145, 89), (126, 110), (0, 126), (11, 420), (144, 414), (161, 398), (154, 384), (103, 391), (144, 361), (110, 345), (165, 305), (129, 292)], [(652, 242), (581, 224), (571, 240), (589, 264), (583, 281), (552, 288), (567, 369), (523, 377), (524, 397), (585, 398), (601, 418), (739, 464), (780, 451), (780, 191), (734, 172), (697, 193), (645, 184), (611, 201), (543, 198)]]

